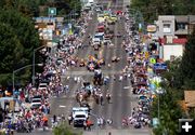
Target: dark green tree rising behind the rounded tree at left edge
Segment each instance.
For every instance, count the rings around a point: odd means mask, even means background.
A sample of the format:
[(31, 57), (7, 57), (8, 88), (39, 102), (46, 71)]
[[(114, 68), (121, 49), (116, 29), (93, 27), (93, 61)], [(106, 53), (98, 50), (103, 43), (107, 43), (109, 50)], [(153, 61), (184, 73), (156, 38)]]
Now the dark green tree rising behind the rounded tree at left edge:
[[(39, 43), (38, 32), (35, 29), (32, 21), (23, 16), (16, 10), (1, 10), (0, 22), (9, 25), (20, 40), (20, 43), (25, 49), (23, 51), (24, 62), (29, 62), (32, 56), (32, 49), (37, 48)], [(21, 57), (22, 58), (22, 57)]]

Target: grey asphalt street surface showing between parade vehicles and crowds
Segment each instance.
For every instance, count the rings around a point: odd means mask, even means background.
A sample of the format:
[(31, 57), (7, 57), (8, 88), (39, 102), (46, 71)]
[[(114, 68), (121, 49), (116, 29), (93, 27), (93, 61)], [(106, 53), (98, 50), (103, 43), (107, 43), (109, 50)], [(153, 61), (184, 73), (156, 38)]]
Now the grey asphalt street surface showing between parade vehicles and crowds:
[[(115, 0), (115, 2), (110, 2), (108, 4), (108, 0), (99, 0), (100, 3), (107, 4), (112, 8), (112, 10), (122, 10), (123, 0)], [(126, 0), (127, 1), (127, 0)], [(104, 75), (108, 75), (109, 72), (119, 73), (126, 66), (126, 52), (121, 48), (122, 38), (114, 38), (112, 42), (114, 43), (113, 46), (108, 48), (105, 45), (102, 45), (100, 51), (94, 51), (93, 48), (89, 45), (89, 38), (88, 35), (93, 35), (95, 32), (95, 28), (98, 25), (96, 21), (96, 14), (92, 16), (92, 19), (89, 21), (89, 26), (87, 29), (87, 35), (83, 39), (83, 44), (86, 48), (83, 50), (79, 50), (76, 54), (79, 58), (88, 58), (89, 55), (98, 54), (99, 56), (102, 55), (102, 57), (105, 59), (106, 65), (109, 63), (110, 67), (103, 67), (102, 70)], [(115, 35), (118, 33), (118, 31), (121, 35), (125, 33), (125, 22), (123, 19), (118, 21), (115, 25), (109, 26), (110, 29), (114, 30)], [(112, 57), (118, 56), (120, 57), (120, 60), (118, 63), (112, 63)], [(74, 72), (81, 72), (81, 73), (74, 73)], [(67, 118), (70, 113), (72, 107), (79, 106), (75, 98), (75, 91), (78, 90), (81, 86), (81, 83), (75, 83), (74, 77), (81, 77), (86, 81), (92, 82), (92, 76), (87, 71), (86, 67), (78, 67), (78, 68), (72, 68), (68, 72), (73, 72), (70, 76), (70, 79), (66, 79), (67, 76), (62, 76), (63, 84), (68, 84), (70, 92), (67, 95), (61, 95), (60, 97), (54, 97), (51, 100), (51, 117), (53, 114), (62, 114), (64, 113)], [(86, 132), (86, 135), (107, 135), (108, 132), (112, 132), (112, 135), (148, 135), (147, 129), (140, 129), (134, 130), (133, 127), (122, 127), (121, 126), (121, 120), (123, 117), (130, 116), (131, 110), (134, 106), (136, 106), (136, 98), (131, 93), (131, 84), (130, 80), (123, 80), (121, 82), (114, 81), (112, 79), (110, 83), (107, 85), (102, 86), (104, 97), (107, 92), (110, 93), (112, 96), (112, 103), (107, 104), (106, 102), (103, 103), (103, 106), (96, 105), (95, 102), (90, 98), (89, 104), (92, 107), (92, 113), (94, 113), (96, 117), (103, 117), (104, 119), (112, 119), (113, 124), (112, 125), (105, 125), (102, 129), (99, 129), (95, 126), (96, 119), (95, 117), (91, 117), (91, 120), (94, 122), (94, 126), (92, 127), (91, 132)], [(51, 135), (52, 133), (50, 131), (42, 132), (41, 130), (35, 131), (32, 133), (29, 133), (31, 135)]]

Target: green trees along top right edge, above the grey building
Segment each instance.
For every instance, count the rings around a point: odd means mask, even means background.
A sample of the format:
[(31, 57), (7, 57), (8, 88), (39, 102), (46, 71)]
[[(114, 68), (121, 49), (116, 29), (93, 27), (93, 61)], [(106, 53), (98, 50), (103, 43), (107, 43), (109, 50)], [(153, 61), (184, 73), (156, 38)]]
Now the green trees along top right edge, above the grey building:
[(147, 23), (158, 15), (193, 15), (195, 0), (131, 0), (131, 8), (139, 10)]

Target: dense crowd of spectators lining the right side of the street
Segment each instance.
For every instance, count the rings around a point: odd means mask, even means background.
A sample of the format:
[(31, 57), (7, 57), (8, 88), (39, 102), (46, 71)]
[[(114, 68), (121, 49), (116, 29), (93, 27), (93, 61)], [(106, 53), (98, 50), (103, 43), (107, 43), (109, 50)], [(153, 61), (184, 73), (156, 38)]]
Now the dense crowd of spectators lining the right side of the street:
[(122, 42), (122, 48), (128, 55), (128, 67), (130, 68), (132, 94), (139, 98), (139, 103), (132, 108), (129, 116), (125, 116), (122, 121), (123, 126), (133, 126), (141, 129), (151, 124), (150, 108), (153, 100), (150, 90), (150, 81), (147, 68), (150, 67), (148, 57), (144, 53), (144, 43), (141, 41), (141, 36), (138, 31), (132, 30), (133, 19), (129, 17), (128, 12), (126, 17), (126, 30), (128, 38)]

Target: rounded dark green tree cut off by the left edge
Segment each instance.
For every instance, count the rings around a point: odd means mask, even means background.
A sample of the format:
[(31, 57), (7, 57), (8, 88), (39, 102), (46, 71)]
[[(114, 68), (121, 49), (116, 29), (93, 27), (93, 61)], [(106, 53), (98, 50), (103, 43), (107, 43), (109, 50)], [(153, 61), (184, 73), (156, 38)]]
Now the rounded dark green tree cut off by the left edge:
[(6, 24), (0, 23), (0, 73), (10, 72), (20, 62), (24, 48), (14, 30)]

